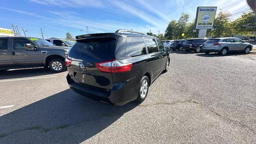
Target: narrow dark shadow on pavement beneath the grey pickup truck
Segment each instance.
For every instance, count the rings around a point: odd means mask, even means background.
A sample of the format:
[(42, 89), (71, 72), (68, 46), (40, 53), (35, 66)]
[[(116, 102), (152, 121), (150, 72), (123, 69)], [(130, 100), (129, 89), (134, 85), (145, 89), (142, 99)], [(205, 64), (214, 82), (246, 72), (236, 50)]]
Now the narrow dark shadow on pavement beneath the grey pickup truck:
[(29, 69), (17, 69), (17, 70), (7, 70), (0, 72), (0, 80), (12, 79), (12, 78), (27, 78), (33, 76), (44, 76), (47, 74), (55, 74), (49, 69), (44, 68), (29, 68)]

